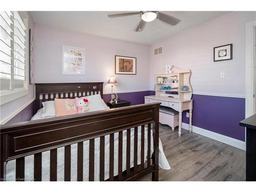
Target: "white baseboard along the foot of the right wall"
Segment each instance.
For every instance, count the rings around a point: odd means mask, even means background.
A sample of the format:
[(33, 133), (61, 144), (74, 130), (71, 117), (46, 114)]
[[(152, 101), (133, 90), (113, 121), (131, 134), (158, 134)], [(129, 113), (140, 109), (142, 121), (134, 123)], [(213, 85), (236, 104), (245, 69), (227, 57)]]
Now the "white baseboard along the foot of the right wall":
[[(182, 128), (185, 129), (185, 130), (189, 130), (189, 124), (182, 123)], [(205, 137), (208, 137), (208, 138), (211, 138), (211, 139), (214, 139), (214, 140), (217, 140), (217, 141), (220, 141), (220, 142), (223, 142), (225, 144), (240, 148), (241, 150), (244, 150), (244, 151), (245, 151), (245, 148), (246, 148), (246, 144), (245, 144), (244, 141), (240, 141), (238, 139), (227, 137), (225, 135), (221, 135), (221, 134), (218, 134), (218, 133), (215, 133), (215, 132), (204, 130), (204, 129), (202, 129), (200, 127), (197, 127), (197, 126), (194, 126), (194, 125), (192, 126), (192, 132), (197, 133), (199, 135), (203, 135)]]

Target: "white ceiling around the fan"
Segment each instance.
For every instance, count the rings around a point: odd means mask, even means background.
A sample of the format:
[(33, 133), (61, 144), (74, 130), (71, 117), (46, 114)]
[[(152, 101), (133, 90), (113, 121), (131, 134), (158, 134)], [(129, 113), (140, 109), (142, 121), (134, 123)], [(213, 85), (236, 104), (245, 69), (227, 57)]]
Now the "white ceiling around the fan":
[(181, 19), (176, 26), (170, 26), (155, 19), (147, 23), (142, 32), (135, 32), (140, 22), (139, 15), (109, 18), (110, 11), (31, 11), (37, 25), (58, 29), (90, 33), (105, 37), (154, 44), (189, 28), (204, 24), (227, 11), (162, 11)]

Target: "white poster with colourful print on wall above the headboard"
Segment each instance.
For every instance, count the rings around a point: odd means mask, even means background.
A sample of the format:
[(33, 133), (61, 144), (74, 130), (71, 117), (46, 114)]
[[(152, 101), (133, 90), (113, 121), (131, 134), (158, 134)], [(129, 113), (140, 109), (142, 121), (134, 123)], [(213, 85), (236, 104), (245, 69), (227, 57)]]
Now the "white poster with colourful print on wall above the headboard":
[(86, 75), (86, 49), (62, 46), (62, 75)]

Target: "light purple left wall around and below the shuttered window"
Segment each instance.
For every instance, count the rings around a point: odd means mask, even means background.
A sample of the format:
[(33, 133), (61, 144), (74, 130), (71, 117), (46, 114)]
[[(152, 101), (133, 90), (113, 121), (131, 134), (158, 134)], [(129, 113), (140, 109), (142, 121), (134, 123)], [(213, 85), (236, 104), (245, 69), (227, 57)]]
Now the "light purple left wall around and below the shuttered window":
[[(28, 29), (34, 30), (34, 24), (31, 15), (28, 13)], [(11, 116), (16, 110), (22, 108), (26, 103), (34, 98), (34, 85), (29, 84), (28, 95), (1, 105), (1, 122)]]

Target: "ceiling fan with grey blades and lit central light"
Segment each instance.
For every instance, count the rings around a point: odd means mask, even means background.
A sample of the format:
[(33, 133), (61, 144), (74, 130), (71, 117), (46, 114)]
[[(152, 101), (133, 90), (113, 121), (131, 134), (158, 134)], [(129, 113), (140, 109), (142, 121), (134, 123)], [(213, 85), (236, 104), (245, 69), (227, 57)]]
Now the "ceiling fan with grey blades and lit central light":
[(181, 21), (180, 19), (174, 16), (170, 16), (165, 13), (161, 13), (159, 11), (137, 11), (137, 12), (117, 13), (117, 14), (109, 14), (108, 17), (114, 18), (114, 17), (123, 17), (123, 16), (137, 15), (137, 14), (139, 14), (141, 17), (140, 23), (135, 30), (137, 32), (140, 32), (144, 29), (146, 22), (152, 22), (156, 18), (172, 26), (177, 25)]

